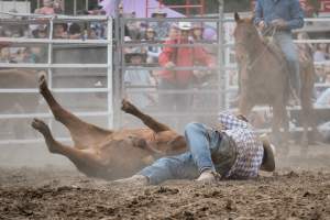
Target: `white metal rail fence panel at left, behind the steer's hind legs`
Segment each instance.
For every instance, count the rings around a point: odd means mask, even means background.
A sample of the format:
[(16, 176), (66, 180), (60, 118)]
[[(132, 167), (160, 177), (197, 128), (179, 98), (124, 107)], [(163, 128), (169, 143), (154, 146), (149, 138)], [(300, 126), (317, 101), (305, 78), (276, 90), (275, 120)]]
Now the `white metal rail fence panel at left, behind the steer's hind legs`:
[[(2, 13), (2, 12), (0, 12)], [(47, 45), (47, 58), (46, 63), (0, 63), (0, 67), (2, 68), (32, 68), (32, 69), (46, 69), (48, 87), (53, 92), (58, 94), (106, 94), (107, 95), (107, 110), (105, 111), (80, 111), (74, 112), (78, 117), (106, 117), (108, 120), (108, 128), (113, 127), (113, 106), (112, 106), (112, 19), (108, 16), (67, 16), (67, 15), (38, 15), (38, 14), (18, 14), (18, 13), (6, 13), (11, 16), (24, 16), (26, 20), (1, 20), (0, 23), (24, 23), (24, 24), (47, 24), (50, 28), (50, 35), (46, 38), (28, 38), (28, 37), (0, 37), (1, 42), (9, 42), (13, 45), (15, 44), (24, 44), (24, 46), (29, 45)], [(53, 26), (57, 22), (105, 22), (107, 25), (107, 40), (58, 40), (53, 38)], [(53, 50), (56, 44), (61, 44), (64, 46), (79, 46), (79, 45), (88, 45), (88, 46), (105, 46), (107, 47), (107, 59), (106, 63), (102, 64), (58, 64), (54, 63)], [(70, 68), (70, 69), (86, 69), (86, 68), (97, 68), (97, 69), (106, 69), (107, 74), (107, 87), (105, 88), (54, 88), (53, 87), (53, 76), (54, 70)], [(84, 75), (81, 75), (84, 76)], [(76, 76), (79, 77), (79, 76)], [(0, 94), (37, 94), (38, 90), (34, 88), (0, 88)], [(10, 119), (31, 119), (31, 118), (45, 118), (48, 119), (48, 125), (52, 128), (52, 118), (53, 114), (51, 111), (47, 113), (3, 113), (0, 114), (0, 119), (10, 120)], [(35, 143), (40, 142), (40, 139), (31, 139), (31, 140), (0, 140), (0, 145), (6, 144), (25, 144), (25, 143)]]

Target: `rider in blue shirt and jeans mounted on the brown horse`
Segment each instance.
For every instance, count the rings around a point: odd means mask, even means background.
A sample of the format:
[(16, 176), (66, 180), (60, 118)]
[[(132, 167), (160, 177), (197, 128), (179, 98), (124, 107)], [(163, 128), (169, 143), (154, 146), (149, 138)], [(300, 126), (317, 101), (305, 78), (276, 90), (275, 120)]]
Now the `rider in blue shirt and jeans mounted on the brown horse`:
[(299, 58), (292, 31), (304, 26), (304, 13), (298, 0), (257, 0), (255, 24), (262, 32), (274, 31), (274, 40), (282, 48), (289, 68), (294, 98), (300, 98)]

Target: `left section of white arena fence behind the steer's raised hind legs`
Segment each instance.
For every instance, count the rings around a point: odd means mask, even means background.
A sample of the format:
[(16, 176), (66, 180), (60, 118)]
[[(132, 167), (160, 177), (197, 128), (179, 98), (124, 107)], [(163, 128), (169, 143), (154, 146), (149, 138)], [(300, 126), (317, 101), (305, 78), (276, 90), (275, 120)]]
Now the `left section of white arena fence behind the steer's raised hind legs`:
[[(92, 118), (95, 117), (101, 117), (103, 123), (106, 123), (106, 127), (112, 128), (113, 127), (113, 96), (112, 96), (112, 19), (108, 16), (67, 16), (67, 15), (56, 15), (56, 16), (48, 16), (48, 15), (35, 15), (35, 14), (12, 14), (9, 13), (9, 15), (12, 16), (12, 19), (8, 20), (1, 20), (0, 23), (1, 25), (13, 25), (13, 24), (26, 24), (26, 25), (46, 25), (48, 29), (48, 36), (46, 38), (26, 38), (26, 37), (0, 37), (0, 41), (9, 42), (11, 43), (10, 47), (13, 46), (44, 46), (47, 47), (47, 54), (44, 63), (0, 63), (0, 68), (19, 68), (19, 69), (44, 69), (47, 73), (47, 82), (50, 89), (56, 95), (61, 95), (62, 97), (64, 96), (70, 96), (70, 95), (82, 95), (87, 96), (90, 94), (103, 94), (102, 96), (106, 96), (105, 98), (106, 101), (106, 109), (105, 110), (82, 110), (82, 111), (74, 111), (74, 113), (78, 117), (88, 117), (91, 121)], [(16, 19), (16, 18), (22, 18), (24, 16), (24, 20)], [(56, 23), (82, 23), (86, 28), (86, 22), (100, 22), (103, 23), (105, 25), (105, 38), (103, 40), (88, 40), (84, 35), (81, 35), (81, 38), (77, 40), (68, 40), (68, 38), (54, 38), (53, 37), (53, 30), (54, 25)], [(87, 25), (88, 26), (88, 25)], [(57, 47), (61, 50), (64, 50), (63, 53), (59, 53), (56, 55), (54, 52)], [(85, 50), (86, 47), (88, 48), (105, 48), (105, 53), (102, 54), (105, 62), (94, 62), (94, 63), (70, 63), (69, 61), (65, 61), (62, 56), (66, 54), (67, 47), (70, 50), (76, 50), (76, 48), (82, 48)], [(77, 54), (77, 53), (76, 53)], [(79, 51), (78, 51), (79, 54)], [(68, 55), (66, 54), (66, 57)], [(90, 57), (92, 58), (92, 57)], [(57, 61), (56, 61), (57, 59)], [(58, 62), (59, 61), (59, 62)], [(75, 70), (76, 69), (76, 70)], [(90, 70), (89, 70), (90, 69)], [(98, 70), (99, 69), (99, 70)], [(55, 88), (54, 87), (54, 74), (56, 77), (64, 77), (63, 72), (69, 72), (69, 73), (75, 73), (75, 75), (72, 76), (72, 78), (81, 78), (84, 80), (84, 77), (88, 76), (94, 76), (94, 75), (102, 75), (102, 77), (106, 77), (106, 82), (103, 85), (96, 85), (92, 87), (84, 86), (79, 87), (75, 86), (73, 87), (61, 87), (61, 88)], [(57, 73), (59, 72), (59, 73)], [(80, 74), (80, 72), (84, 72), (84, 74)], [(97, 72), (92, 73), (92, 72)], [(79, 75), (80, 74), (80, 75)], [(6, 79), (2, 79), (6, 80)], [(66, 81), (66, 79), (64, 79)], [(105, 86), (106, 85), (106, 86)], [(0, 94), (35, 94), (37, 96), (37, 89), (36, 88), (0, 88)], [(82, 101), (80, 100), (75, 100), (76, 102)], [(91, 99), (89, 105), (94, 106), (94, 100)], [(53, 114), (51, 111), (48, 112), (21, 112), (21, 113), (12, 113), (12, 112), (2, 112), (0, 114), (0, 120), (13, 120), (13, 119), (29, 119), (31, 120), (32, 118), (46, 118), (48, 119), (48, 124), (52, 127), (53, 123), (51, 120), (53, 118)], [(57, 136), (58, 138), (58, 136)], [(65, 138), (61, 138), (59, 140), (67, 140)], [(14, 143), (35, 143), (40, 142), (42, 140), (40, 139), (2, 139), (0, 140), (0, 144), (14, 144)]]

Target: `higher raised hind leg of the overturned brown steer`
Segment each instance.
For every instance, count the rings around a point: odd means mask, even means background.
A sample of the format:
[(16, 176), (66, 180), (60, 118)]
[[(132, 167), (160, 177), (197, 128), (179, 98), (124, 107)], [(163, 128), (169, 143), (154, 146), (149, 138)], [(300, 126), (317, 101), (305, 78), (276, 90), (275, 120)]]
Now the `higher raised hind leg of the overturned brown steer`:
[(55, 119), (69, 130), (76, 146), (81, 148), (90, 147), (111, 134), (111, 131), (84, 122), (65, 110), (53, 97), (44, 75), (40, 77), (38, 82), (41, 95), (50, 106)]

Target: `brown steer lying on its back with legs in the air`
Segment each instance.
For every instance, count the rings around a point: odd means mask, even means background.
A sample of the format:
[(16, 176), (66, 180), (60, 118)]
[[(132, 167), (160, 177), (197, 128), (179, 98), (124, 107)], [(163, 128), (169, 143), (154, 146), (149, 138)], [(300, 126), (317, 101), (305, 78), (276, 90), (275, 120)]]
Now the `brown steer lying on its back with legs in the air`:
[(122, 101), (122, 110), (138, 117), (148, 128), (111, 131), (86, 123), (54, 99), (44, 76), (40, 78), (40, 91), (55, 119), (69, 130), (75, 146), (66, 146), (54, 140), (48, 127), (38, 119), (34, 119), (32, 127), (44, 135), (51, 153), (68, 157), (88, 176), (105, 179), (128, 177), (160, 156), (186, 150), (184, 136), (144, 114), (127, 100)]

